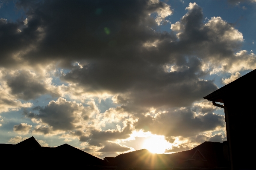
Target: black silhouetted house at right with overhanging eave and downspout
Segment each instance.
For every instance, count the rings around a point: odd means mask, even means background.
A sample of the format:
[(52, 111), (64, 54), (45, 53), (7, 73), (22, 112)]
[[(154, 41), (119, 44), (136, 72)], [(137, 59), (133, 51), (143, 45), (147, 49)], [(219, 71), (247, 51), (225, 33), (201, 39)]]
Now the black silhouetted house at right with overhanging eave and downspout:
[(204, 97), (224, 108), (232, 170), (255, 169), (255, 78), (256, 69)]

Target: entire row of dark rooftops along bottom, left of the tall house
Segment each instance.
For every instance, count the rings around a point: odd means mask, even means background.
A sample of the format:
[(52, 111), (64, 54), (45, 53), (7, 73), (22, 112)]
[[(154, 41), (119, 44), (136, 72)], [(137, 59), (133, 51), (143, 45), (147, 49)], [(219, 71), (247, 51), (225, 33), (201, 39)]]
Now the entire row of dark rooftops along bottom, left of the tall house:
[(2, 162), (8, 169), (24, 164), (34, 168), (84, 168), (92, 170), (186, 170), (229, 169), (227, 142), (204, 142), (191, 150), (173, 154), (153, 154), (137, 150), (104, 160), (68, 144), (41, 147), (34, 137), (18, 144), (0, 144)]

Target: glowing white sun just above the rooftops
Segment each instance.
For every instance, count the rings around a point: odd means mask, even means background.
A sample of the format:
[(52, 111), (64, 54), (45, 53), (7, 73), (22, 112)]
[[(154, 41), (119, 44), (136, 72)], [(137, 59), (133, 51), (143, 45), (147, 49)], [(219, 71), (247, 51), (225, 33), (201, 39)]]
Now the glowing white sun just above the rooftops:
[(165, 140), (164, 136), (152, 135), (147, 138), (143, 143), (143, 148), (149, 150), (151, 153), (165, 153), (170, 143)]

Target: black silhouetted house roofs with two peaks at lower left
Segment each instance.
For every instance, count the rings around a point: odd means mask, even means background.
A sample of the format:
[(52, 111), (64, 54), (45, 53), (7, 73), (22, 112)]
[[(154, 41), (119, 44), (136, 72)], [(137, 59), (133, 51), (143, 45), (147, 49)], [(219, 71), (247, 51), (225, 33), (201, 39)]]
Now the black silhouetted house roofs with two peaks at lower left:
[(6, 169), (117, 169), (112, 164), (68, 144), (41, 147), (34, 137), (18, 144), (0, 144), (0, 150), (1, 162), (7, 166)]

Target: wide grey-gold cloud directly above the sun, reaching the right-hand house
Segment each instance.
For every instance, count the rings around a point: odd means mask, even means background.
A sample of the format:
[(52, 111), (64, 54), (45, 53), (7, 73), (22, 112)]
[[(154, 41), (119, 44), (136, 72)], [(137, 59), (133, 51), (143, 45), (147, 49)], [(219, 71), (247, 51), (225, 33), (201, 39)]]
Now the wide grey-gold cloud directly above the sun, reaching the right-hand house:
[[(182, 124), (182, 126), (180, 126)], [(205, 131), (225, 127), (223, 115), (212, 112), (196, 114), (189, 108), (170, 110), (155, 117), (143, 115), (135, 124), (136, 129), (150, 131), (153, 134), (168, 136), (191, 137)]]

